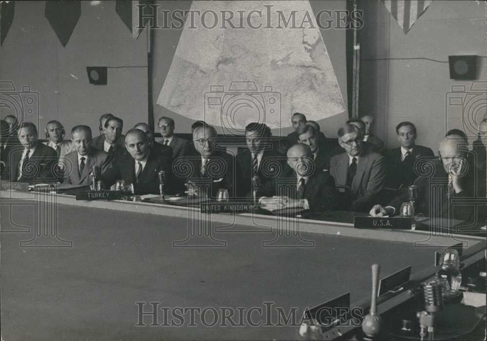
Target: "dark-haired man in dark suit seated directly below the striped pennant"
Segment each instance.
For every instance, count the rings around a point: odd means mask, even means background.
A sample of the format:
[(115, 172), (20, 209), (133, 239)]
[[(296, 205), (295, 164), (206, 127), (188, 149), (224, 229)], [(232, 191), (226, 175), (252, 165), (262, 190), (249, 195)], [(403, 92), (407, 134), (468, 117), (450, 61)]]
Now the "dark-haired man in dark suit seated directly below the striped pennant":
[(397, 139), (401, 147), (386, 153), (386, 187), (399, 189), (411, 185), (417, 177), (414, 163), (420, 157), (433, 157), (430, 148), (417, 146), (416, 127), (411, 122), (396, 126)]

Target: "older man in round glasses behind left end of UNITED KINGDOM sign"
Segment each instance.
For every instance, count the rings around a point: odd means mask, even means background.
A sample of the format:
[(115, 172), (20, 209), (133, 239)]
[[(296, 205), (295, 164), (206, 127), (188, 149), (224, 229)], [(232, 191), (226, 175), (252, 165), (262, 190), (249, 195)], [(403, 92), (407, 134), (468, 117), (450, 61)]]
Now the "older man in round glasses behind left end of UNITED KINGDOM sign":
[[(228, 190), (230, 198), (235, 196), (235, 158), (226, 152), (216, 149), (217, 132), (212, 126), (200, 126), (193, 132), (193, 143), (196, 153), (185, 155), (175, 160), (174, 169), (183, 168), (190, 163), (187, 178), (188, 194), (215, 198), (219, 189)], [(186, 167), (188, 168), (188, 167)], [(178, 171), (181, 177), (183, 174)]]

